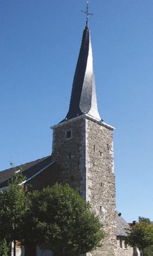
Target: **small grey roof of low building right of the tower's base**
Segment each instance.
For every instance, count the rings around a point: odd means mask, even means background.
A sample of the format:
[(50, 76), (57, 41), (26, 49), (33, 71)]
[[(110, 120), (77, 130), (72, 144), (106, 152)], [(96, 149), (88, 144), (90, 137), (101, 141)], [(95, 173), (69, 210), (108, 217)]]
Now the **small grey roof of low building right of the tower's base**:
[(117, 236), (127, 236), (127, 233), (125, 232), (125, 228), (130, 228), (129, 224), (121, 217), (116, 217), (116, 235)]

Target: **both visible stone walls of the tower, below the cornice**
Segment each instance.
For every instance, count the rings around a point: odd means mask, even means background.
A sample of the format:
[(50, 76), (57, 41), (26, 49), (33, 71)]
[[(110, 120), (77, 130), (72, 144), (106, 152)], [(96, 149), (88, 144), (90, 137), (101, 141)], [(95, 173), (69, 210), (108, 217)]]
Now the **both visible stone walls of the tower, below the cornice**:
[[(71, 131), (71, 138), (65, 138), (66, 131)], [(87, 255), (114, 256), (116, 203), (112, 130), (87, 117), (56, 126), (52, 157), (58, 164), (60, 181), (78, 188), (104, 225), (107, 236), (102, 248)]]

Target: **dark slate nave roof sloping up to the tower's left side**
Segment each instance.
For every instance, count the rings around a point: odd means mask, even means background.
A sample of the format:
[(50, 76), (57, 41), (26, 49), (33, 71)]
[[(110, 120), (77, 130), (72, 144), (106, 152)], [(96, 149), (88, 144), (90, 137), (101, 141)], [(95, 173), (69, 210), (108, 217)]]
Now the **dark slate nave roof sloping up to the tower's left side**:
[(19, 165), (15, 168), (10, 168), (0, 172), (0, 189), (8, 186), (8, 181), (12, 177), (15, 171), (22, 170), (22, 174), (28, 180), (30, 177), (37, 174), (37, 172), (41, 171), (43, 168), (47, 167), (49, 164), (54, 162), (51, 156), (43, 157), (41, 159), (37, 159), (36, 161), (32, 161), (29, 163), (25, 163)]

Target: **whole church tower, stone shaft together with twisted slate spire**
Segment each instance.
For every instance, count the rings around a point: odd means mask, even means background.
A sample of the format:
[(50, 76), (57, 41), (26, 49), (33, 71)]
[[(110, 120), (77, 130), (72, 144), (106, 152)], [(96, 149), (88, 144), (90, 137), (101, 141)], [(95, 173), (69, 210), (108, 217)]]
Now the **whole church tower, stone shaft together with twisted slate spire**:
[(52, 156), (59, 182), (78, 188), (103, 223), (106, 238), (92, 256), (113, 256), (116, 248), (116, 201), (112, 131), (99, 117), (88, 23), (66, 118), (52, 126)]

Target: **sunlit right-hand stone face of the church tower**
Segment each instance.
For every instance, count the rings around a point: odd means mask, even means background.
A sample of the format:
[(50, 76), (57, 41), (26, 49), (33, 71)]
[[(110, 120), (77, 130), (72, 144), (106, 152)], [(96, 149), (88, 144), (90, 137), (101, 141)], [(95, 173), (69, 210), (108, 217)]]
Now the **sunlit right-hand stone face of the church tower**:
[(86, 120), (87, 199), (103, 223), (106, 237), (92, 256), (113, 256), (116, 248), (116, 200), (112, 130)]

